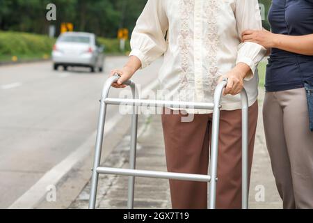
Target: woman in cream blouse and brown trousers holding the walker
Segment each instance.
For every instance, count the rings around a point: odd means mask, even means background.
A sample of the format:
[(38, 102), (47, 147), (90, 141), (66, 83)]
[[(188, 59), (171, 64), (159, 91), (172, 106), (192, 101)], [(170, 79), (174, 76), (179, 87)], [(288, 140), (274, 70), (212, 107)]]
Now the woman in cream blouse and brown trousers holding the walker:
[[(249, 99), (250, 167), (257, 125), (257, 64), (266, 49), (241, 43), (246, 29), (262, 30), (256, 0), (149, 0), (131, 37), (128, 63), (114, 87), (164, 54), (159, 72), (168, 97), (212, 102), (221, 77), (228, 78), (220, 115), (217, 208), (241, 208), (241, 100)], [(193, 114), (193, 121), (182, 118)], [(162, 115), (168, 171), (207, 174), (211, 111), (187, 109)], [(207, 208), (207, 183), (170, 180), (172, 208)]]

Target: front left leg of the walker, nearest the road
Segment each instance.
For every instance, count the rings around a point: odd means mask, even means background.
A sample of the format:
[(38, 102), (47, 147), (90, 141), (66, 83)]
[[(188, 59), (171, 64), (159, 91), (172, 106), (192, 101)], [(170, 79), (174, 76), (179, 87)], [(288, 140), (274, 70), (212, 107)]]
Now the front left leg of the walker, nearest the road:
[(97, 186), (98, 186), (98, 177), (99, 177), (99, 174), (97, 173), (97, 168), (100, 166), (100, 162), (101, 162), (105, 118), (106, 118), (106, 104), (102, 100), (100, 113), (99, 113), (97, 141), (95, 145), (95, 160), (93, 164), (93, 177), (91, 179), (89, 209), (95, 209), (95, 204), (96, 204), (96, 199), (97, 199)]

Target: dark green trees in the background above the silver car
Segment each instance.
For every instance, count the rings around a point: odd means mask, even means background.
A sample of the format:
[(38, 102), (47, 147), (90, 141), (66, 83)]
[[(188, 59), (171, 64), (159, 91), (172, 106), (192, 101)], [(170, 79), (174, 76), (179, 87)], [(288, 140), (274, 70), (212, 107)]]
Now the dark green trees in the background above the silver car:
[[(130, 31), (147, 0), (0, 0), (0, 29), (47, 33), (50, 24), (72, 22), (75, 31), (116, 37), (121, 24)], [(54, 3), (57, 21), (46, 20), (46, 6)], [(122, 12), (123, 3), (127, 10)]]

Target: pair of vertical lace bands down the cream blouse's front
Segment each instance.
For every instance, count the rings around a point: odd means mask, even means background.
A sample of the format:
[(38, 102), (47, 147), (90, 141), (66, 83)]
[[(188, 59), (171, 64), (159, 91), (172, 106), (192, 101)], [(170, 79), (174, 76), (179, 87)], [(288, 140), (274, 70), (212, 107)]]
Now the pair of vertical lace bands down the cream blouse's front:
[[(218, 21), (217, 15), (220, 10), (219, 0), (207, 0), (204, 1), (204, 15), (203, 22), (208, 24), (208, 30), (206, 36), (201, 36), (203, 45), (207, 56), (205, 56), (204, 67), (205, 72), (202, 77), (204, 85), (204, 93), (213, 95), (214, 89), (218, 84), (218, 46), (220, 40), (218, 37)], [(194, 71), (192, 70), (193, 60), (190, 59), (190, 52), (193, 52), (193, 27), (191, 27), (191, 20), (194, 15), (195, 0), (180, 0), (180, 31), (179, 31), (179, 49), (181, 54), (181, 67), (182, 74), (180, 76), (180, 88), (179, 88), (179, 100), (191, 100), (194, 96), (192, 92), (195, 89), (190, 86), (191, 83), (195, 83)], [(190, 94), (191, 93), (191, 94)], [(208, 99), (209, 100), (209, 99)]]

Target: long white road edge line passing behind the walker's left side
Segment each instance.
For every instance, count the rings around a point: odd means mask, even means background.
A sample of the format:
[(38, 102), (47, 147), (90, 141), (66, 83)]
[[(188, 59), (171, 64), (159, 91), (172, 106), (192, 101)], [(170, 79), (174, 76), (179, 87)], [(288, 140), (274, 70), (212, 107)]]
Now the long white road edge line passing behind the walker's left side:
[[(141, 98), (145, 98), (150, 91), (158, 86), (159, 82), (155, 80), (145, 89)], [(106, 122), (104, 134), (110, 132), (116, 123), (122, 119), (120, 114), (115, 114), (113, 118)], [(29, 190), (27, 190), (19, 199), (17, 199), (9, 209), (33, 209), (36, 204), (45, 199), (48, 192), (47, 187), (57, 185), (58, 182), (81, 160), (90, 155), (92, 148), (95, 146), (97, 131), (88, 137), (88, 139), (77, 148), (73, 153), (65, 157), (63, 161), (50, 169), (40, 180), (37, 181)], [(91, 174), (90, 174), (91, 176)]]

